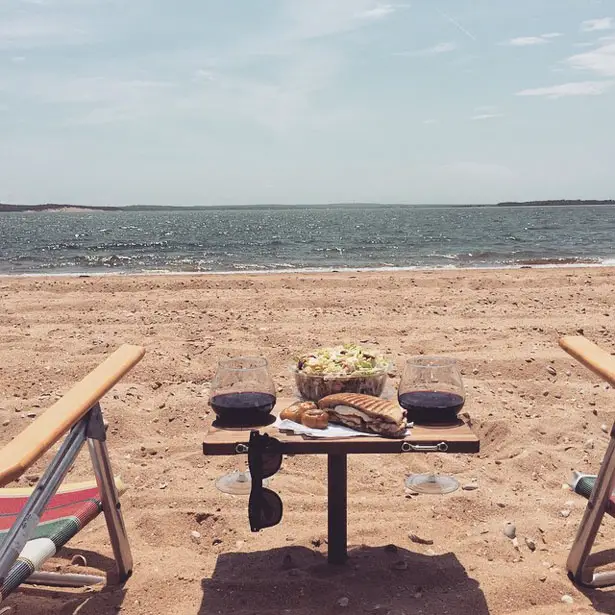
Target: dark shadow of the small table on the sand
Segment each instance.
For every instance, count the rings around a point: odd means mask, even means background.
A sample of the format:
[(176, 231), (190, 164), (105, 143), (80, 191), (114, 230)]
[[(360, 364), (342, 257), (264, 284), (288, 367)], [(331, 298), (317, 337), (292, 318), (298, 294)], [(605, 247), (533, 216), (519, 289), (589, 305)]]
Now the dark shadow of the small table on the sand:
[(305, 547), (223, 554), (202, 589), (198, 615), (326, 615), (344, 606), (347, 613), (489, 615), (478, 582), (453, 553), (394, 545), (354, 548), (344, 566)]

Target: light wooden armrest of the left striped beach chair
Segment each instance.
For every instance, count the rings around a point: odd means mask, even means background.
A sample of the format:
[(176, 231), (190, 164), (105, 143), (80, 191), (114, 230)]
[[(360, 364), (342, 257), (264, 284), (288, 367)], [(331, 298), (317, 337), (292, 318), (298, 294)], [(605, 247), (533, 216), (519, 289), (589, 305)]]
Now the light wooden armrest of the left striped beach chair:
[(144, 348), (124, 344), (0, 449), (0, 487), (21, 476), (83, 418), (144, 354)]

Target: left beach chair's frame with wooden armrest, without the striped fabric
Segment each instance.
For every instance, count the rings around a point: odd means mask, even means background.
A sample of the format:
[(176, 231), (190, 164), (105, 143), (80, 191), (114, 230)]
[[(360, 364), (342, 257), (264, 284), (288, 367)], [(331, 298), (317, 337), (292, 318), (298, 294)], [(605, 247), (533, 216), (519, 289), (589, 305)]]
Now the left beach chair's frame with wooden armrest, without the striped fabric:
[[(86, 443), (111, 540), (117, 578), (35, 571), (25, 583), (83, 587), (105, 582), (122, 584), (131, 576), (132, 554), (111, 469), (106, 443), (106, 427), (99, 399), (141, 360), (143, 354), (144, 350), (140, 347), (124, 345), (32, 423), (28, 428), (29, 434), (26, 434), (28, 431), (26, 429), (4, 450), (0, 449), (5, 458), (5, 467), (2, 467), (3, 459), (0, 455), (1, 486), (21, 475), (54, 442), (58, 441), (63, 433), (68, 431), (59, 450), (38, 480), (25, 506), (0, 545), (0, 582), (4, 580), (22, 549), (31, 539), (45, 507), (60, 487)], [(90, 405), (92, 401), (94, 403)], [(39, 425), (37, 426), (36, 423)], [(37, 435), (39, 438), (44, 437), (45, 440), (35, 441)], [(9, 447), (11, 447), (10, 450), (7, 450)]]

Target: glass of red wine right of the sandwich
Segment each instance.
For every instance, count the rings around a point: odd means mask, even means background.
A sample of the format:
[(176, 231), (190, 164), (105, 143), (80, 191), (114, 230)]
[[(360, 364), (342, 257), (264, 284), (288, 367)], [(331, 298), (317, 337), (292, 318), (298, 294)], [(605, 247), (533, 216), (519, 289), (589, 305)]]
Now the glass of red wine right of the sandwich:
[[(465, 402), (457, 361), (450, 357), (418, 356), (406, 361), (397, 393), (408, 422), (424, 425), (454, 424)], [(417, 493), (451, 493), (459, 488), (452, 476), (411, 474), (405, 482)]]

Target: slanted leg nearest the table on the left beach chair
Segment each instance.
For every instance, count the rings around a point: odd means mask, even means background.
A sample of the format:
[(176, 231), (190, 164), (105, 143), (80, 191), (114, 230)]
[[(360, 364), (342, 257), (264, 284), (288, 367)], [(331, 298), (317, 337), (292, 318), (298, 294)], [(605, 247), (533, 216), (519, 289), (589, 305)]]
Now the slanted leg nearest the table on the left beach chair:
[(111, 461), (107, 450), (105, 427), (102, 421), (100, 405), (91, 410), (88, 431), (88, 447), (96, 475), (96, 482), (103, 505), (103, 514), (111, 539), (111, 548), (117, 566), (118, 581), (124, 583), (132, 574), (132, 553), (121, 512), (120, 498), (115, 488)]

